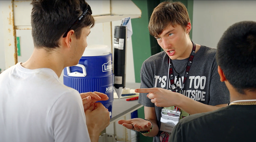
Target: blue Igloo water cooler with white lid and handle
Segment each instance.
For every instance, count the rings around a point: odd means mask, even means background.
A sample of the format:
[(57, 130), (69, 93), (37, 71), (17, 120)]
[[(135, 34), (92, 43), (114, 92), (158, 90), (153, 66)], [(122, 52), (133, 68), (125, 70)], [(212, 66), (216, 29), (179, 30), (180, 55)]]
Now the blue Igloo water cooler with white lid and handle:
[(76, 66), (64, 69), (63, 83), (79, 93), (97, 91), (108, 95), (109, 100), (99, 102), (109, 110), (111, 117), (114, 100), (112, 68), (111, 48), (106, 45), (91, 45), (86, 47)]

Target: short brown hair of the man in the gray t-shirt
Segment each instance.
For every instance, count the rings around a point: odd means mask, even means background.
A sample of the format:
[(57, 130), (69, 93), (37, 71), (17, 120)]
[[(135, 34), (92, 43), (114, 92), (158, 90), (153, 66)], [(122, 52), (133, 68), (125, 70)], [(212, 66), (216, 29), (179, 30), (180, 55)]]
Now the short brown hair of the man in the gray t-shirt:
[(154, 8), (148, 30), (152, 36), (159, 36), (169, 25), (179, 24), (186, 29), (188, 22), (190, 22), (188, 11), (183, 3), (166, 1)]

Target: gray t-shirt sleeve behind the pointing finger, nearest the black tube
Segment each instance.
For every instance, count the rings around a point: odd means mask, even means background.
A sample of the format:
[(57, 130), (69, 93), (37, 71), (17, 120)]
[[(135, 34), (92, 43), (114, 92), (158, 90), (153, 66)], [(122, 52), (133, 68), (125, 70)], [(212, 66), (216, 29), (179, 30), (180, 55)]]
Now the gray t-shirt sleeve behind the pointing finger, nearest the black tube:
[[(141, 88), (153, 88), (152, 68), (147, 66), (149, 62), (144, 62), (141, 67)], [(140, 93), (138, 103), (146, 107), (155, 107), (155, 104), (147, 97), (148, 93)]]

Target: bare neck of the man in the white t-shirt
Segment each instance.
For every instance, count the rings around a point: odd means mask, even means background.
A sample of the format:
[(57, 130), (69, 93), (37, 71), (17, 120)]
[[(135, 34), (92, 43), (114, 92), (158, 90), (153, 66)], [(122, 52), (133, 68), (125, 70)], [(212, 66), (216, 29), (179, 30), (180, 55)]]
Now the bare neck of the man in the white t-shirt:
[(31, 57), (22, 66), (27, 69), (50, 68), (58, 77), (60, 77), (64, 69), (64, 59), (60, 52), (55, 50), (47, 52), (44, 48), (34, 48)]

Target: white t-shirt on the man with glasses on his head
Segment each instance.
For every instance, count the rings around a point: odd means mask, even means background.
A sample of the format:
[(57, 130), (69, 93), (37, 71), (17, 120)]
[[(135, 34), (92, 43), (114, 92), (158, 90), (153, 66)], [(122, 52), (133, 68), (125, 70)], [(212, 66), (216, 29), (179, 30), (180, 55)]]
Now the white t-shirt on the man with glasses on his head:
[(79, 92), (20, 64), (0, 74), (0, 142), (89, 142)]

